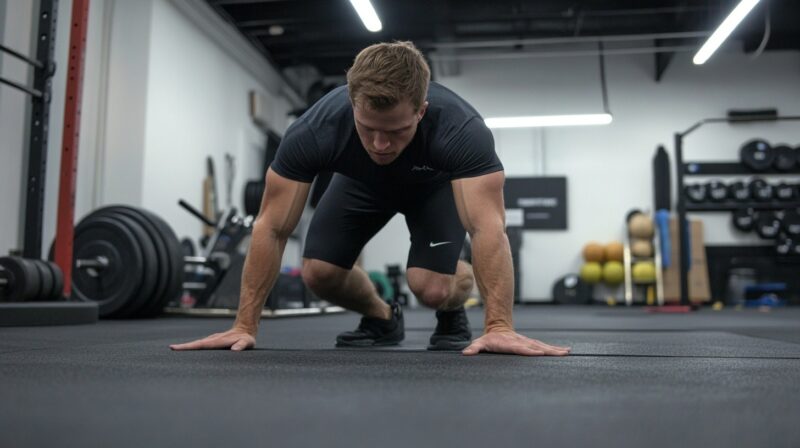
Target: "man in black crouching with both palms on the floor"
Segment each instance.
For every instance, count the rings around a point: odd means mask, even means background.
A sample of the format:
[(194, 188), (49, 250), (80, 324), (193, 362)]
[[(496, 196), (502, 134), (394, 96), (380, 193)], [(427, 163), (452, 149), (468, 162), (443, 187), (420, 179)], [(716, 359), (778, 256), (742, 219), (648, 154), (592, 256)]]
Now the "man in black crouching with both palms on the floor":
[[(407, 279), (436, 311), (431, 350), (557, 355), (569, 348), (517, 334), (513, 273), (505, 234), (503, 166), (480, 115), (445, 87), (410, 42), (370, 46), (337, 88), (286, 132), (270, 169), (242, 275), (233, 328), (184, 349), (255, 346), (265, 298), (278, 276), (314, 176), (336, 172), (312, 218), (303, 280), (320, 297), (363, 315), (337, 346), (396, 345), (404, 337), (399, 305), (389, 305), (355, 260), (397, 212), (411, 234)], [(459, 261), (465, 230), (473, 267)], [(463, 304), (473, 278), (484, 298), (484, 334), (471, 341)]]

